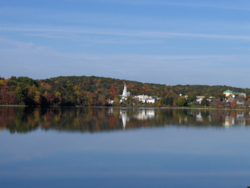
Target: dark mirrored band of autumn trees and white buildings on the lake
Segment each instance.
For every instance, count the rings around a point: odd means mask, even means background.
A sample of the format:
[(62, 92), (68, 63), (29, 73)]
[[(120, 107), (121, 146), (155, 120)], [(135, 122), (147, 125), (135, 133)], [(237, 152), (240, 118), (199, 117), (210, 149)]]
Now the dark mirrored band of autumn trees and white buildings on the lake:
[(11, 133), (42, 130), (99, 132), (157, 126), (223, 127), (250, 125), (246, 111), (135, 108), (0, 107), (0, 129)]

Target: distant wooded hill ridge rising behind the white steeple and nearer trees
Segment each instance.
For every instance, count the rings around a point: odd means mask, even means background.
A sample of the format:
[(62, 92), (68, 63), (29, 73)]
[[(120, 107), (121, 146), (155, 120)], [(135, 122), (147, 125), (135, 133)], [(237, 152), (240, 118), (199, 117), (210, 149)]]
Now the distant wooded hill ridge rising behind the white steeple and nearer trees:
[(45, 83), (49, 83), (52, 86), (55, 86), (57, 83), (65, 87), (68, 83), (78, 85), (81, 90), (96, 92), (98, 89), (107, 89), (109, 90), (112, 86), (117, 88), (118, 93), (122, 93), (123, 84), (125, 83), (128, 87), (128, 90), (132, 95), (147, 94), (147, 95), (156, 95), (160, 97), (165, 97), (166, 95), (180, 93), (183, 95), (186, 94), (195, 94), (195, 95), (216, 95), (218, 93), (223, 93), (226, 90), (244, 92), (250, 95), (249, 88), (237, 88), (231, 86), (209, 86), (209, 85), (165, 85), (165, 84), (154, 84), (154, 83), (142, 83), (131, 80), (121, 80), (115, 78), (106, 78), (106, 77), (96, 77), (96, 76), (59, 76), (49, 79), (40, 80)]

